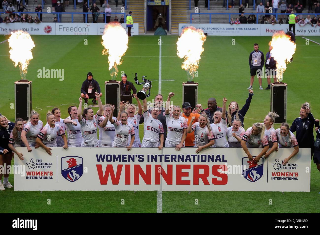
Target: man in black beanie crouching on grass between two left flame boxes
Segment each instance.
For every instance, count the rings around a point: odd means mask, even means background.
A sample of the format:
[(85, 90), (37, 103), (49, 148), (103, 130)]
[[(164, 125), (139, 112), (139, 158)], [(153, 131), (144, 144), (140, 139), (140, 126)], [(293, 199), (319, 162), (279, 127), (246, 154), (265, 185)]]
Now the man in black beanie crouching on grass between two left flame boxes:
[(84, 102), (88, 104), (88, 99), (92, 99), (93, 104), (97, 104), (95, 92), (100, 93), (102, 96), (99, 83), (93, 79), (92, 73), (87, 74), (87, 79), (82, 83), (81, 87), (81, 98), (84, 98)]

